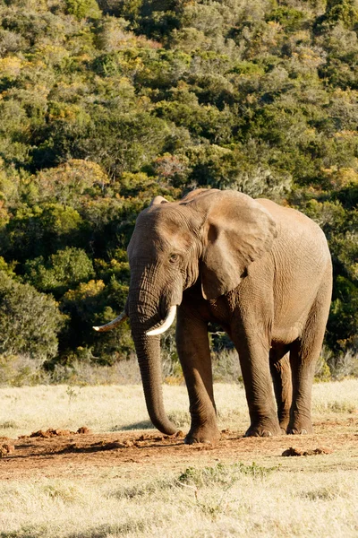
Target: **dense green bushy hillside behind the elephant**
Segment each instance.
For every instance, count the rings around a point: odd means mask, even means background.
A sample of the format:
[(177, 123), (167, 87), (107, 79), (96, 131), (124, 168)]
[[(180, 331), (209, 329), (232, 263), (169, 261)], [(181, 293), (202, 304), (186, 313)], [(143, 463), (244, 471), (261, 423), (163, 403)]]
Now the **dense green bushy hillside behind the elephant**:
[(357, 98), (357, 0), (0, 0), (0, 361), (127, 357), (91, 325), (136, 215), (194, 187), (320, 224), (328, 365), (357, 354)]

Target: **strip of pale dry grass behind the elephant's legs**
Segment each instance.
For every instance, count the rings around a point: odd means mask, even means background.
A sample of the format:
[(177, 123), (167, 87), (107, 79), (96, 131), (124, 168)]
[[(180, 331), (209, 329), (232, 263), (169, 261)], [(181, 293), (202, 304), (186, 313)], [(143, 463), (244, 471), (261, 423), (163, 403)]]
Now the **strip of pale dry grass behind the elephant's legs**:
[[(163, 386), (166, 411), (180, 428), (189, 426), (185, 386)], [(243, 387), (217, 383), (219, 425), (244, 430), (248, 411)], [(313, 386), (316, 418), (349, 415), (358, 410), (358, 380)], [(82, 425), (95, 431), (151, 428), (141, 386), (22, 386), (0, 388), (0, 436), (17, 437), (33, 430)]]

